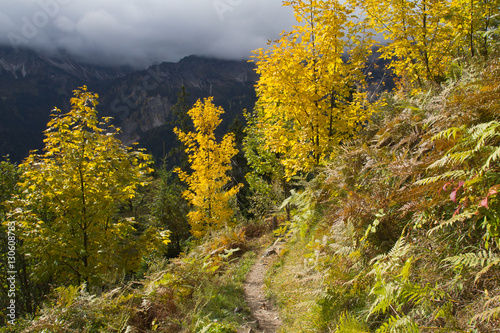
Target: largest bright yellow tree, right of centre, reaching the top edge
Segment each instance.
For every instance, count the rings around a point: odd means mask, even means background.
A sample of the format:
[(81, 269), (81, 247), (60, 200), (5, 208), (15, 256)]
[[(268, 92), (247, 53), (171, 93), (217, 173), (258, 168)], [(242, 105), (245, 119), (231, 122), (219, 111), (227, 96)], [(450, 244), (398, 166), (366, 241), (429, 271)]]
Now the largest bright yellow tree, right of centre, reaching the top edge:
[(371, 41), (348, 3), (284, 4), (300, 25), (269, 49), (254, 51), (254, 61), (266, 149), (280, 154), (290, 177), (320, 164), (370, 114), (363, 68)]

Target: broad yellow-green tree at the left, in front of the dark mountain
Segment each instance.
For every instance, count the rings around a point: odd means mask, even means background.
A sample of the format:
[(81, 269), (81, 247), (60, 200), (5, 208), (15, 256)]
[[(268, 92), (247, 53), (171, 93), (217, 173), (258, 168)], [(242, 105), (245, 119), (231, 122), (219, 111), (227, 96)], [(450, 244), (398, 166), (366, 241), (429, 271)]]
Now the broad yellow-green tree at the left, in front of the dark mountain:
[(75, 90), (71, 110), (54, 109), (43, 154), (32, 152), (20, 165), (22, 194), (12, 219), (22, 230), (22, 252), (32, 260), (36, 280), (100, 285), (136, 269), (141, 257), (168, 232), (138, 232), (121, 205), (148, 182), (151, 159), (122, 145), (118, 129), (99, 120), (97, 95)]

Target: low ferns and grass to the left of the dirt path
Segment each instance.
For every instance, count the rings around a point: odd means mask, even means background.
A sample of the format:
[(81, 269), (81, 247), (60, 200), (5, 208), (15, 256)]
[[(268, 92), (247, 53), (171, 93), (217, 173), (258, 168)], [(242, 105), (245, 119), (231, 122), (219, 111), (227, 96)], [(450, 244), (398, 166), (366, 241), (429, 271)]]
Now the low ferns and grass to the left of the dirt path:
[(249, 320), (243, 284), (265, 224), (212, 234), (172, 260), (150, 262), (145, 278), (101, 294), (55, 289), (35, 318), (0, 332), (231, 333)]

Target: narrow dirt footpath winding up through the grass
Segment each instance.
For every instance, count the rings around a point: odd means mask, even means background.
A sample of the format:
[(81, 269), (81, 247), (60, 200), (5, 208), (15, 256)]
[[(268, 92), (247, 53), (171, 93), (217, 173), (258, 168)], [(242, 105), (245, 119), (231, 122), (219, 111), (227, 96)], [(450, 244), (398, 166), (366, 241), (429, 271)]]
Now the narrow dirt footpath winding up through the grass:
[(278, 313), (266, 300), (264, 294), (264, 277), (267, 271), (269, 256), (276, 254), (274, 247), (264, 252), (253, 265), (245, 281), (245, 298), (254, 317), (253, 322), (238, 330), (239, 333), (274, 333), (281, 326)]

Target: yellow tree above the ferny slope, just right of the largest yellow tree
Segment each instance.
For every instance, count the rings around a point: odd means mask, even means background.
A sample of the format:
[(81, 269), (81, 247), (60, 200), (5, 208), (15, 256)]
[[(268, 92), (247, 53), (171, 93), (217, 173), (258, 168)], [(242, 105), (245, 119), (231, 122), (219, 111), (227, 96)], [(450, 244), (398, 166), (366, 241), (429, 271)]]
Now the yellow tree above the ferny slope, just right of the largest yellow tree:
[(360, 2), (373, 29), (386, 40), (379, 50), (403, 79), (401, 88), (417, 92), (445, 79), (458, 42), (448, 24), (451, 0)]

